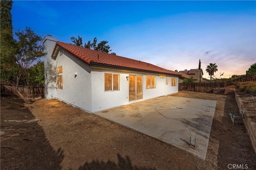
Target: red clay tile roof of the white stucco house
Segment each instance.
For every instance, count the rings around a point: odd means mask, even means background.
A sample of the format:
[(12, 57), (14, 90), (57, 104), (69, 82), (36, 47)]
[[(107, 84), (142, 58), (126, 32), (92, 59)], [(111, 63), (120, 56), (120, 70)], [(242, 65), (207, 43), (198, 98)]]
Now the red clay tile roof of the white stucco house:
[(150, 71), (150, 72), (180, 75), (178, 72), (167, 70), (150, 63), (145, 63), (145, 62), (134, 60), (134, 59), (128, 59), (126, 57), (121, 57), (118, 55), (112, 55), (112, 54), (104, 53), (101, 51), (87, 49), (84, 47), (79, 47), (79, 46), (71, 45), (68, 43), (62, 43), (60, 41), (56, 42), (56, 45), (52, 52), (52, 57), (55, 54), (55, 50), (57, 46), (60, 46), (66, 49), (67, 51), (69, 51), (76, 57), (80, 58), (82, 61), (86, 62), (87, 64), (115, 66), (115, 67), (121, 67), (121, 68), (130, 68), (130, 69), (144, 70), (144, 71)]

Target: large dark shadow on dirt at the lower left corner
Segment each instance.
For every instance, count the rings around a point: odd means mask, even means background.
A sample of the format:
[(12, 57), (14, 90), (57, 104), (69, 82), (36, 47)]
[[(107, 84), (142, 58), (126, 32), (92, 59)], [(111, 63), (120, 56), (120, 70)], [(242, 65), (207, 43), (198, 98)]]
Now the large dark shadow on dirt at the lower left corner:
[[(63, 150), (55, 151), (38, 122), (9, 122), (31, 120), (34, 115), (22, 100), (1, 100), (1, 169), (61, 170)], [(40, 120), (38, 120), (40, 121)]]

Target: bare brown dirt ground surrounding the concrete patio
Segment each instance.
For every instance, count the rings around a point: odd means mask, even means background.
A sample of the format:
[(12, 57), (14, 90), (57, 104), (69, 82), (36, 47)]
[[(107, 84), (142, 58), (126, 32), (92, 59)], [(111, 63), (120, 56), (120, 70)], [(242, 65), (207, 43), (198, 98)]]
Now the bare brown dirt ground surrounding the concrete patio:
[[(256, 154), (238, 113), (234, 95), (179, 92), (172, 96), (216, 100), (206, 160), (58, 100), (1, 99), (1, 170), (76, 169), (256, 169)], [(36, 122), (9, 122), (4, 120)], [(18, 136), (16, 136), (18, 134)], [(13, 136), (15, 135), (15, 136)]]

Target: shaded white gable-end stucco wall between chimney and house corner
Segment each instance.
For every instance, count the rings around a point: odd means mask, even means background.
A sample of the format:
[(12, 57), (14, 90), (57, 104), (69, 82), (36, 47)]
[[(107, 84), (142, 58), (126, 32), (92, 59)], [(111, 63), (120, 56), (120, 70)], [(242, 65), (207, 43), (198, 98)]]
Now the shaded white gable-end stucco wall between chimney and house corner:
[[(63, 76), (63, 89), (57, 88), (56, 96), (53, 97), (87, 111), (92, 111), (90, 67), (66, 50), (63, 50), (63, 55), (58, 54), (56, 64), (57, 67), (62, 66), (62, 73), (58, 75)], [(75, 72), (77, 72), (76, 77)], [(58, 76), (56, 79), (58, 80)], [(56, 86), (58, 87), (58, 84)]]

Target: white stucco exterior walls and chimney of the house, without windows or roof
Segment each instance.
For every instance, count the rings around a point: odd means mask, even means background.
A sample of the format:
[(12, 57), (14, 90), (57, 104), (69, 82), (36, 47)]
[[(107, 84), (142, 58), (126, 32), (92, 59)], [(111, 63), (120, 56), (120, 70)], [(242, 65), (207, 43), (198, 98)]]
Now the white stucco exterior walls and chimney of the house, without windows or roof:
[[(51, 50), (53, 50), (55, 43), (51, 41), (51, 39), (48, 41), (47, 37), (44, 38), (44, 45), (48, 52), (44, 61), (46, 65), (45, 68), (47, 68), (45, 69), (46, 98), (58, 98), (86, 111), (96, 112), (178, 92), (178, 76), (176, 75), (173, 76), (173, 78), (177, 78), (176, 86), (172, 86), (172, 76), (170, 75), (165, 75), (165, 78), (160, 78), (160, 74), (114, 69), (111, 67), (89, 66), (65, 49), (52, 59)], [(49, 63), (51, 67), (47, 67)], [(57, 73), (57, 68), (60, 66), (62, 66), (62, 72)], [(51, 76), (50, 82), (48, 82), (49, 72), (54, 72), (55, 74), (55, 76)], [(77, 74), (76, 77), (74, 73)], [(105, 91), (104, 73), (119, 74), (119, 90)], [(63, 89), (58, 88), (59, 75), (62, 75)], [(129, 102), (129, 80), (127, 80), (126, 77), (130, 75), (142, 76), (141, 100)], [(156, 76), (156, 88), (146, 89), (146, 76)], [(168, 84), (166, 84), (166, 77), (168, 77)], [(54, 81), (52, 79), (54, 79)]]

